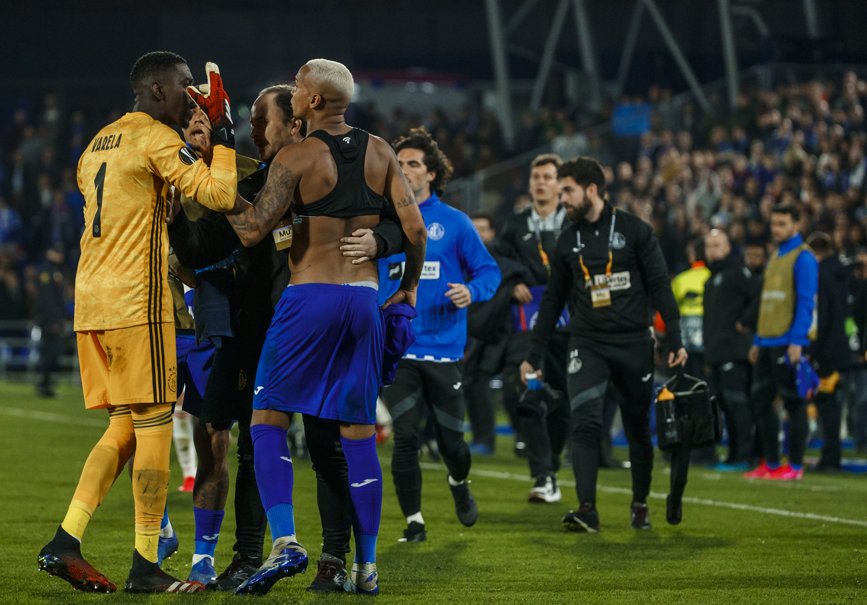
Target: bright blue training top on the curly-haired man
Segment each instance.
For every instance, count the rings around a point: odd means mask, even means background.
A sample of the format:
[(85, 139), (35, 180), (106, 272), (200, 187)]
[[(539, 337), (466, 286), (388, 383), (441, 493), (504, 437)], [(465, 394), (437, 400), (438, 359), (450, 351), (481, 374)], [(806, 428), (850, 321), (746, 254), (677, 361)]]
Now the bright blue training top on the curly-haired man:
[[(500, 273), (473, 221), (440, 201), (436, 194), (419, 204), (427, 226), (425, 267), (419, 281), (413, 319), (416, 340), (404, 358), (449, 362), (464, 357), (466, 307), (446, 297), (449, 282), (466, 284), (473, 302), (488, 300), (497, 291)], [(380, 304), (397, 291), (403, 277), (404, 254), (379, 260)]]

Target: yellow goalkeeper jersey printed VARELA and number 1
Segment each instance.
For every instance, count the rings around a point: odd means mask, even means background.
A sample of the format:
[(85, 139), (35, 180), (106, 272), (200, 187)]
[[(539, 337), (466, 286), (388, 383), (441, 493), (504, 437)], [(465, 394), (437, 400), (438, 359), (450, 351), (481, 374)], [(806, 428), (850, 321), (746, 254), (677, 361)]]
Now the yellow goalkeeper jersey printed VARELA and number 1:
[(78, 187), (86, 203), (76, 332), (173, 322), (165, 220), (171, 185), (205, 207), (231, 209), (234, 149), (214, 148), (209, 168), (172, 128), (136, 112), (102, 128), (81, 155)]

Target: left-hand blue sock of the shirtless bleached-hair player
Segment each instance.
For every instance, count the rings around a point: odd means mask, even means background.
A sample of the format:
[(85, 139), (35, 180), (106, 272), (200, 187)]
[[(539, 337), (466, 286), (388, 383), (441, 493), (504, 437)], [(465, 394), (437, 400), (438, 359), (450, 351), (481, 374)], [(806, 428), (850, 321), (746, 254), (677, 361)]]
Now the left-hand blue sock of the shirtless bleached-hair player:
[(271, 537), (295, 535), (295, 517), (292, 509), (292, 457), (286, 443), (286, 430), (271, 424), (253, 424), (256, 483), (262, 506), (268, 516)]

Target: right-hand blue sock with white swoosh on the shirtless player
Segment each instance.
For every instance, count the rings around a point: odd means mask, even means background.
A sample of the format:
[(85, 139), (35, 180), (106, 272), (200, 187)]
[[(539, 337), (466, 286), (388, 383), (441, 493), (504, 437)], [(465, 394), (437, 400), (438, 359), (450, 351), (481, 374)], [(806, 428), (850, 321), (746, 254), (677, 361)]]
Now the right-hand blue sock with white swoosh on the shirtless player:
[(340, 437), (349, 467), (349, 495), (355, 507), (355, 561), (376, 561), (376, 536), (382, 513), (382, 468), (376, 455), (376, 436), (367, 439)]

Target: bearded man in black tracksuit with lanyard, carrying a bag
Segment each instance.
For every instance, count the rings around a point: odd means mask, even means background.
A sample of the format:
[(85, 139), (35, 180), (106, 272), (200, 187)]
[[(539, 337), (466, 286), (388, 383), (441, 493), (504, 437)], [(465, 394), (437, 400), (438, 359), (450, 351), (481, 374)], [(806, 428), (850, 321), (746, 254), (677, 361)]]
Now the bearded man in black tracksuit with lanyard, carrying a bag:
[(551, 279), (521, 376), (536, 372), (542, 378), (539, 360), (568, 302), (572, 470), (581, 506), (564, 516), (564, 528), (599, 530), (596, 475), (605, 391), (611, 381), (623, 395), (623, 429), (632, 463), (631, 526), (649, 529), (647, 496), (654, 453), (649, 425), (654, 372), (651, 309), (659, 310), (668, 328), (671, 367), (687, 360), (680, 312), (653, 229), (603, 200), (605, 175), (599, 163), (578, 157), (565, 162), (557, 178), (560, 203), (574, 222), (564, 228), (551, 254)]

